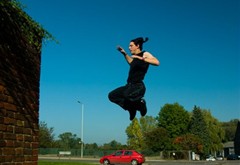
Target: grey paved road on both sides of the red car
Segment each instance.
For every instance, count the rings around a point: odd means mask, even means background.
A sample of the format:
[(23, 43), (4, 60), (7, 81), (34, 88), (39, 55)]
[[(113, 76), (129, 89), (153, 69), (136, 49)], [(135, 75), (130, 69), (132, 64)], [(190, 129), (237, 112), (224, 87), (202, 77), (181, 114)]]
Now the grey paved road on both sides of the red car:
[[(46, 161), (78, 161), (84, 163), (100, 164), (99, 158), (76, 158), (76, 157), (44, 157), (39, 156), (39, 160)], [(146, 160), (143, 165), (240, 165), (240, 160), (224, 160), (224, 161), (187, 161), (187, 160)]]

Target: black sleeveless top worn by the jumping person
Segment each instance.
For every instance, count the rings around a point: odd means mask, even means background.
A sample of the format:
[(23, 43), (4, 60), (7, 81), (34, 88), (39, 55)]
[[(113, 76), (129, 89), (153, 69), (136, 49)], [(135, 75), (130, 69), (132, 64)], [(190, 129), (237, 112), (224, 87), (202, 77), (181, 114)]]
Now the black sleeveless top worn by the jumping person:
[[(137, 56), (143, 57), (143, 52), (136, 54)], [(128, 73), (128, 83), (141, 83), (147, 73), (149, 67), (149, 63), (134, 58), (133, 61), (130, 63), (130, 70)]]

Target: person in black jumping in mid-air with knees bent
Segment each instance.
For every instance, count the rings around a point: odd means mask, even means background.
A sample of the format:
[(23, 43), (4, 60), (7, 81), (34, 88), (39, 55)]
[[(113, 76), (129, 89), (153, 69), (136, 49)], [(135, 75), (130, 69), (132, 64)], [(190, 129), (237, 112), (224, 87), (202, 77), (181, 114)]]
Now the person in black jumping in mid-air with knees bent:
[(131, 56), (128, 55), (122, 47), (117, 47), (117, 50), (124, 56), (130, 65), (130, 70), (127, 84), (111, 91), (108, 98), (111, 102), (129, 111), (130, 120), (135, 118), (137, 110), (140, 111), (141, 116), (147, 114), (146, 101), (143, 99), (146, 91), (143, 80), (149, 64), (155, 66), (160, 64), (158, 59), (151, 53), (142, 51), (143, 43), (147, 41), (148, 38), (143, 39), (142, 37), (131, 40), (129, 43)]

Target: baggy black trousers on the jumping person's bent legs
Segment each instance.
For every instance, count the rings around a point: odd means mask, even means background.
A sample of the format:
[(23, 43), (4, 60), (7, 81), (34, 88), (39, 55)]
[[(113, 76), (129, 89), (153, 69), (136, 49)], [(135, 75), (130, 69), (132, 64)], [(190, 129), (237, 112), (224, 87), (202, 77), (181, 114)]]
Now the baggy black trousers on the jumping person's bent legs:
[(125, 110), (138, 109), (141, 98), (144, 97), (146, 88), (144, 83), (129, 83), (119, 87), (108, 94), (111, 102), (118, 104)]

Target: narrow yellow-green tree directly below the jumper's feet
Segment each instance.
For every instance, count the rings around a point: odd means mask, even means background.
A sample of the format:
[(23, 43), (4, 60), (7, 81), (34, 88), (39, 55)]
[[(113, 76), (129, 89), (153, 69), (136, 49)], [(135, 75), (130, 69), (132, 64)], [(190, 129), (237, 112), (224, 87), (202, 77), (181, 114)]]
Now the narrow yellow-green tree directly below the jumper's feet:
[(132, 149), (141, 151), (143, 149), (143, 134), (137, 118), (133, 119), (131, 124), (127, 127), (126, 134), (128, 136), (128, 146)]

